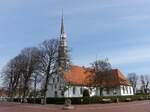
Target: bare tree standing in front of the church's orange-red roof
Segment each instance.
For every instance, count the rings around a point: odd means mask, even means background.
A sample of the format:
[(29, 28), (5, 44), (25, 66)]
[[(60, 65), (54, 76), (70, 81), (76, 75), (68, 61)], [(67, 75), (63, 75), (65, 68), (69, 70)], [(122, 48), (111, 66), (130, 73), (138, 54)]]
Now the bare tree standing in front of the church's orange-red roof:
[(104, 81), (110, 78), (111, 64), (108, 59), (97, 60), (92, 63), (92, 68), (95, 71), (94, 84), (99, 88), (100, 96), (103, 95)]

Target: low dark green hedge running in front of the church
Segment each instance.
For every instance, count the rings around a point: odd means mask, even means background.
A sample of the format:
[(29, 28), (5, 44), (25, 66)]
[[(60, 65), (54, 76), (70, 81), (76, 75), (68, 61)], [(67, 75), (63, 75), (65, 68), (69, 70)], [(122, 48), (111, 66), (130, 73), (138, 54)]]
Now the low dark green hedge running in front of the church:
[[(47, 98), (47, 104), (64, 104), (67, 98)], [(69, 98), (72, 101), (72, 104), (94, 104), (94, 103), (112, 103), (117, 102), (127, 102), (127, 101), (137, 101), (137, 100), (150, 100), (150, 95), (133, 95), (133, 96), (95, 96), (95, 97), (72, 97)], [(41, 103), (41, 98), (27, 98), (27, 103)], [(14, 98), (14, 102), (20, 102), (19, 98)]]

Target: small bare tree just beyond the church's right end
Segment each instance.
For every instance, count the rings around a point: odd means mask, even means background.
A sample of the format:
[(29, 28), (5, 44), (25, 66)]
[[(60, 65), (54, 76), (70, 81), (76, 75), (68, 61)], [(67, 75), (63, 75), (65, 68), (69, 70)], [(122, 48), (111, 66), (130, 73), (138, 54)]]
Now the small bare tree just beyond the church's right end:
[(136, 73), (129, 73), (127, 78), (132, 84), (134, 93), (136, 93), (137, 81), (139, 78), (138, 75)]

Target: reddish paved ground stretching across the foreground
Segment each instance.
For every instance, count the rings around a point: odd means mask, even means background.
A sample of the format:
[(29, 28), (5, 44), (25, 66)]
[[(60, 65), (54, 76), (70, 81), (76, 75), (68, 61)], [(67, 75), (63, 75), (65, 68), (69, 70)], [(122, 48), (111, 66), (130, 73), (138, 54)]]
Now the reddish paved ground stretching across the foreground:
[(74, 110), (62, 110), (62, 105), (34, 105), (3, 102), (0, 103), (0, 112), (150, 112), (150, 101), (74, 106)]

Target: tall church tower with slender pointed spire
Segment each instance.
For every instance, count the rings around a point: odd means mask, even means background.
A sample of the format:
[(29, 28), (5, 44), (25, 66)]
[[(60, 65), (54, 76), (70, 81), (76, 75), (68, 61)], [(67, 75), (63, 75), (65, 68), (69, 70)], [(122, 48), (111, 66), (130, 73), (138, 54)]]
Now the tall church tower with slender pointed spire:
[(67, 35), (64, 31), (64, 17), (62, 13), (61, 17), (61, 29), (59, 37), (59, 46), (58, 46), (58, 67), (62, 70), (68, 70), (69, 67), (69, 57), (67, 49)]

